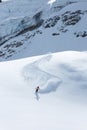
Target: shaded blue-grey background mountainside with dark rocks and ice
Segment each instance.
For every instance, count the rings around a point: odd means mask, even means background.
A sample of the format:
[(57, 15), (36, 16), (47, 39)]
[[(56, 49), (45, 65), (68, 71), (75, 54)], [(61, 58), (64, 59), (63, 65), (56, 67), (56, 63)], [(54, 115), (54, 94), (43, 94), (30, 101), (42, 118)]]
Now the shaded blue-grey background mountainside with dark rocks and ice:
[(86, 0), (10, 0), (0, 14), (0, 61), (87, 50)]

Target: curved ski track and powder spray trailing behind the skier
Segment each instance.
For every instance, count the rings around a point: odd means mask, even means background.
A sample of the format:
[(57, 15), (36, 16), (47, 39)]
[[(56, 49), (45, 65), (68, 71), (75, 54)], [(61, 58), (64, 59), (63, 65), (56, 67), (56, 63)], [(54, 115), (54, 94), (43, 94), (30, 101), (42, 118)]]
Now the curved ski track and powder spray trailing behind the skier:
[(44, 57), (39, 61), (25, 66), (23, 69), (24, 79), (28, 81), (32, 87), (39, 85), (41, 88), (39, 91), (40, 94), (55, 92), (62, 82), (59, 77), (44, 71), (39, 66), (40, 64), (44, 64), (44, 62), (49, 62), (51, 57), (51, 55)]

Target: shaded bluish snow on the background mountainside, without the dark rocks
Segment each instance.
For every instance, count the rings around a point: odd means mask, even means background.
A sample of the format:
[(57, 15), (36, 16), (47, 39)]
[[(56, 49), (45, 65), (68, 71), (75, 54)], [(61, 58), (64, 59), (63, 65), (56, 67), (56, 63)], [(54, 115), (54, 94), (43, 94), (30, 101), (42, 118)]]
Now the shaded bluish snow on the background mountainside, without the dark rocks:
[[(15, 0), (15, 1), (8, 1), (8, 2), (2, 2), (0, 4), (0, 37), (5, 37), (5, 40), (8, 40), (11, 37), (14, 37), (16, 33), (20, 30), (23, 30), (23, 27), (27, 27), (29, 25), (33, 25), (34, 20), (32, 19), (33, 15), (35, 15), (39, 11), (43, 11), (42, 18), (47, 19), (55, 15), (61, 16), (61, 14), (67, 12), (67, 11), (76, 11), (76, 10), (87, 10), (87, 4), (86, 1), (84, 2), (77, 2), (70, 4), (68, 6), (65, 6), (63, 9), (61, 9), (59, 12), (53, 13), (50, 6), (48, 6), (47, 2), (51, 2), (48, 0), (45, 1), (30, 1), (30, 0)], [(58, 4), (64, 5), (66, 2), (69, 1), (58, 1), (56, 0), (52, 5), (54, 6)], [(13, 6), (14, 5), (14, 6)], [(17, 10), (17, 11), (16, 11)], [(25, 20), (25, 24), (21, 25), (22, 20)], [(29, 39), (25, 39), (27, 35), (33, 35), (36, 31), (31, 31), (28, 34), (25, 33), (21, 36), (18, 36), (16, 38), (13, 38), (11, 40), (8, 40), (4, 45), (1, 46), (1, 51), (6, 53), (6, 56), (8, 57), (9, 54), (7, 50), (5, 50), (5, 45), (9, 45), (11, 43), (14, 43), (14, 41), (17, 42), (23, 42), (23, 46), (20, 48), (13, 48), (15, 51), (15, 54), (12, 57), (9, 57), (8, 60), (11, 59), (18, 59), (18, 58), (24, 58), (29, 56), (36, 56), (46, 53), (55, 53), (60, 51), (86, 51), (87, 50), (87, 37), (77, 38), (74, 33), (78, 33), (81, 31), (87, 30), (87, 13), (85, 13), (81, 20), (74, 26), (66, 26), (65, 30), (68, 30), (66, 33), (62, 33), (59, 30), (62, 26), (62, 21), (60, 20), (55, 27), (51, 27), (49, 29), (44, 29), (43, 27), (40, 27), (39, 30), (42, 32), (42, 34), (36, 34), (34, 37), (32, 36)], [(53, 33), (59, 33), (58, 36), (53, 36)], [(0, 41), (1, 42), (1, 41)], [(38, 46), (38, 48), (37, 48)], [(79, 47), (78, 47), (79, 46)], [(20, 51), (21, 50), (21, 51)], [(6, 60), (7, 57), (1, 58), (0, 61)]]

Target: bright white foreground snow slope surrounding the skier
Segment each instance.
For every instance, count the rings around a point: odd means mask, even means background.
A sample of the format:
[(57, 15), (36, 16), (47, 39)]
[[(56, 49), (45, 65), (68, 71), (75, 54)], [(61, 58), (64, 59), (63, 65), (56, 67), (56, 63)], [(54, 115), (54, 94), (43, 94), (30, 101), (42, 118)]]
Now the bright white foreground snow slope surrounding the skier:
[(69, 51), (1, 62), (0, 130), (86, 130), (86, 57)]

